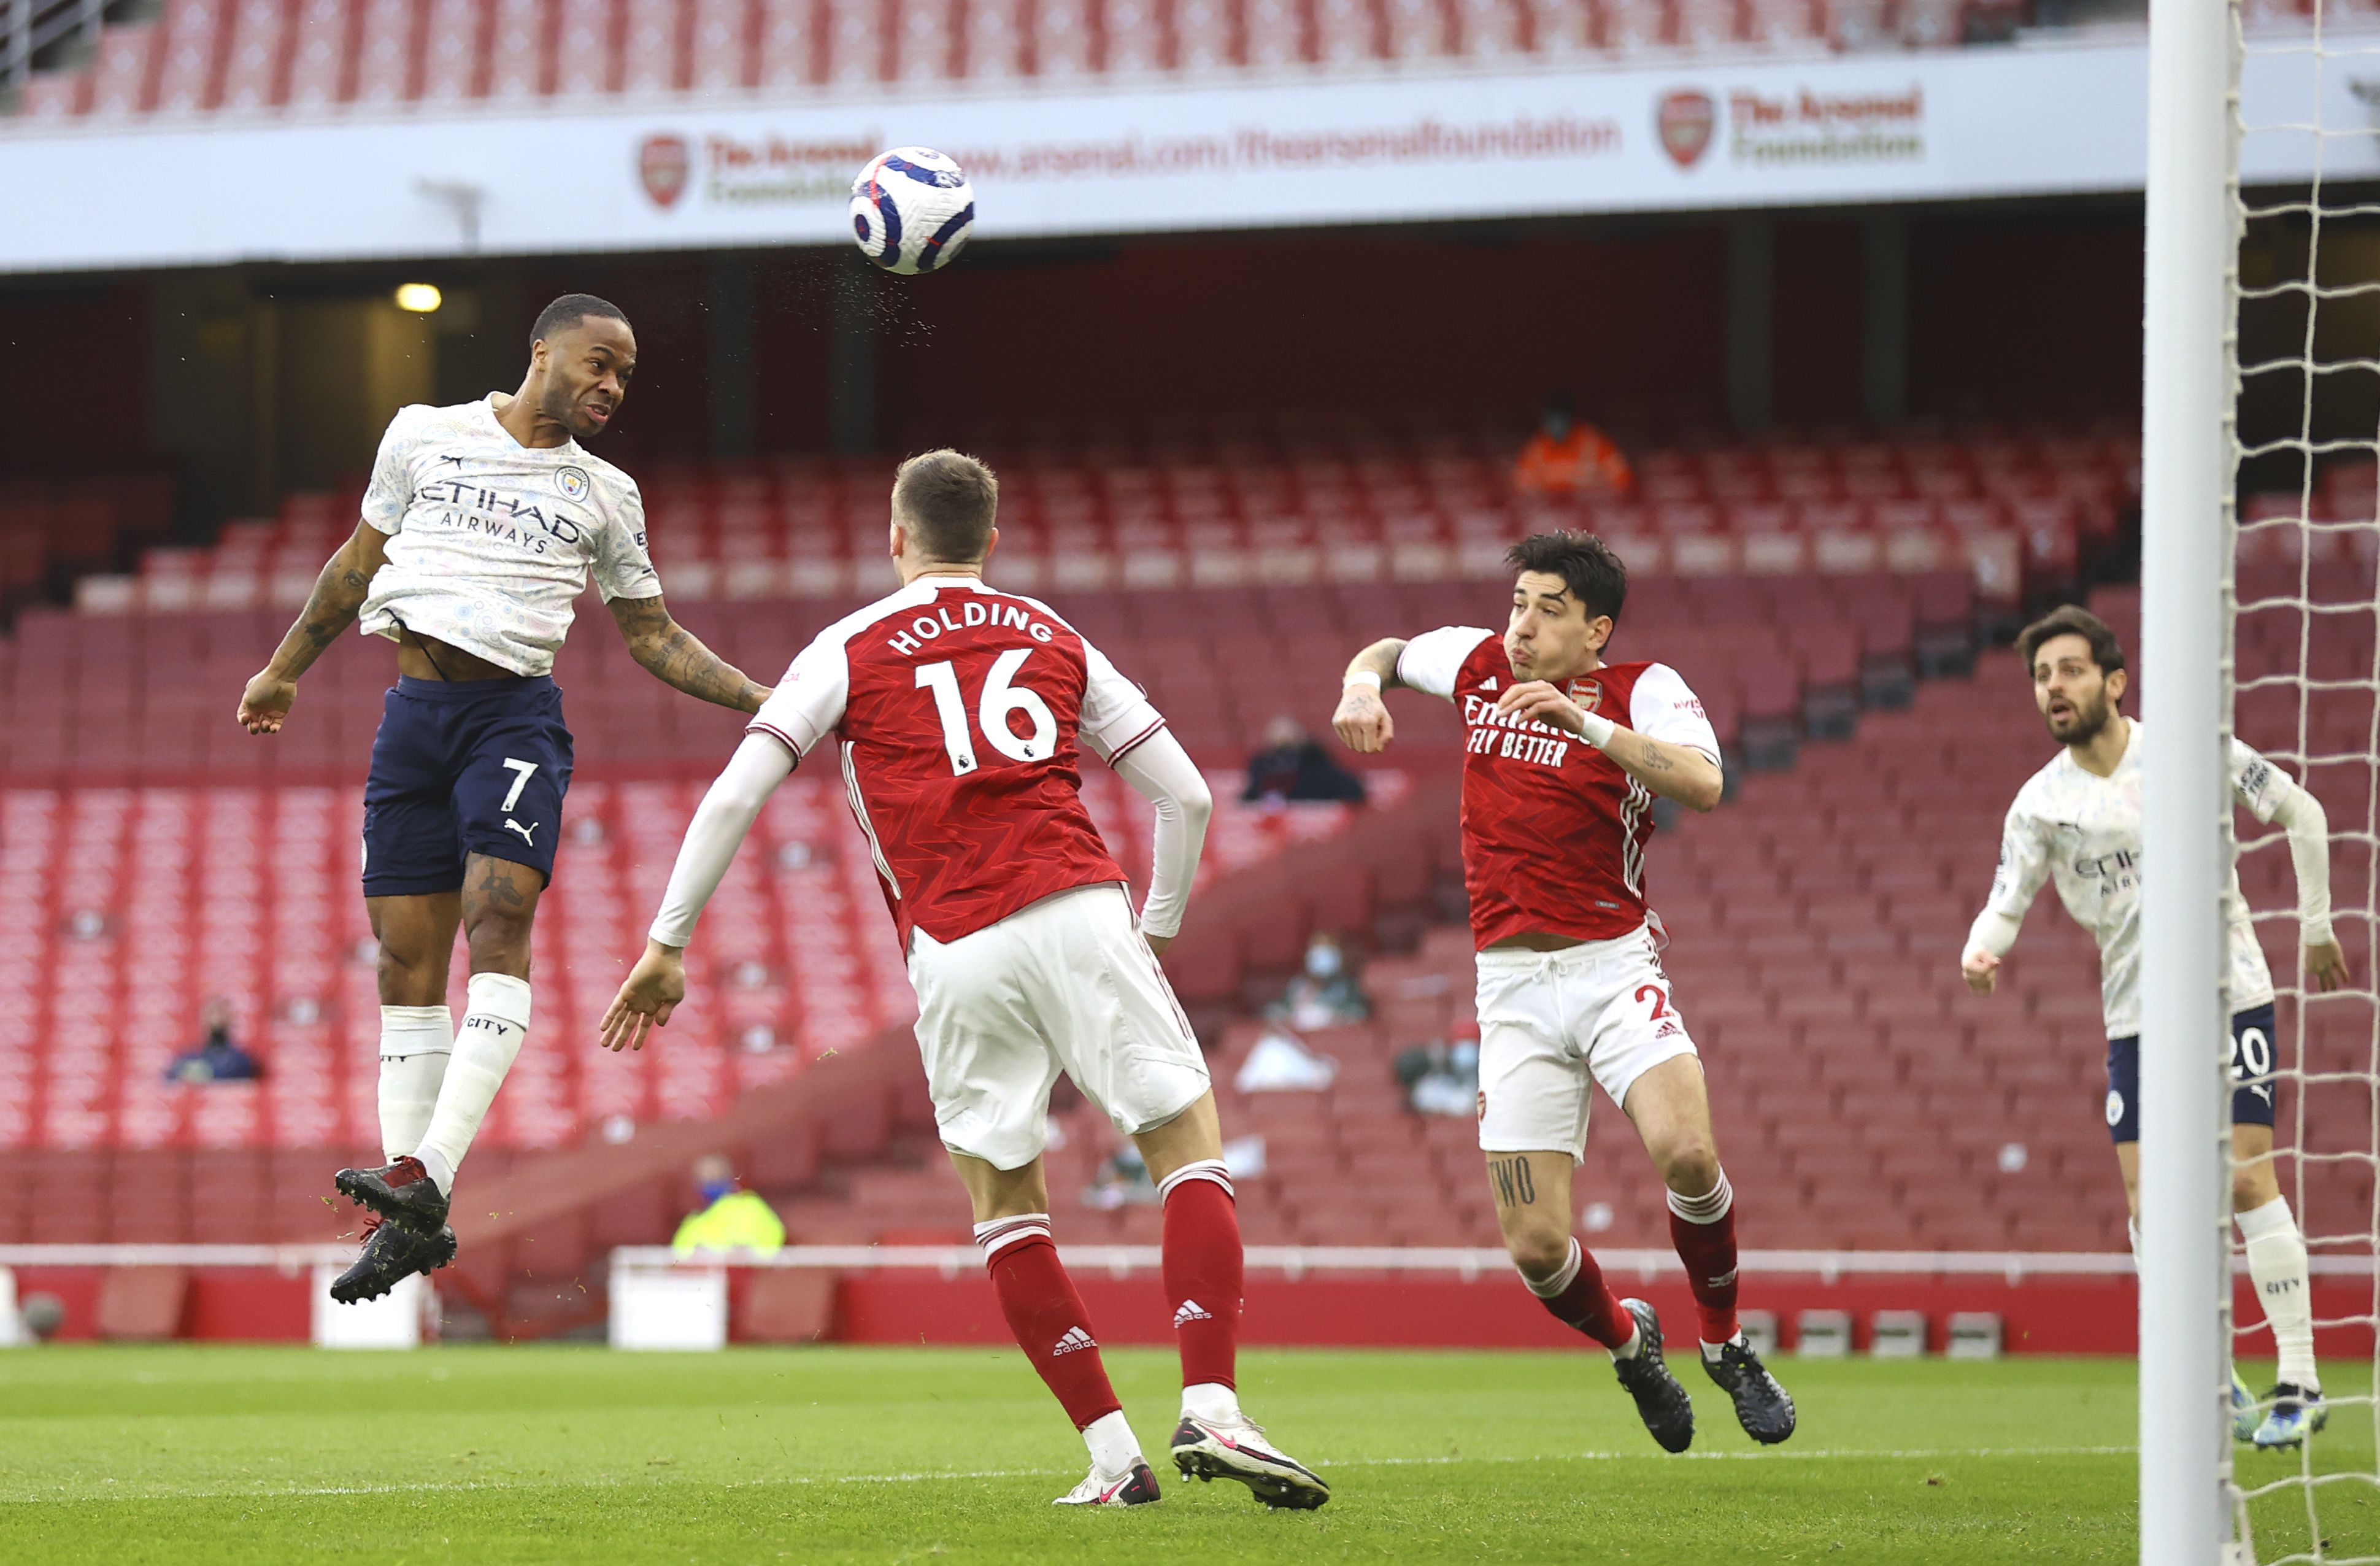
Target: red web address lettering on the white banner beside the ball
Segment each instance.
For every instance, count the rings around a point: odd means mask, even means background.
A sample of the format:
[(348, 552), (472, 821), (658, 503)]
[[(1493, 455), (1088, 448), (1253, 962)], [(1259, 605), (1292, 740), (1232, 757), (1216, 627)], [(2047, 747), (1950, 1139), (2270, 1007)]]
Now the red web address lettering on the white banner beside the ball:
[(1483, 162), (1511, 157), (1606, 157), (1621, 150), (1611, 119), (1521, 114), (1488, 124), (1418, 119), (1368, 131), (1261, 131), (1228, 136), (1119, 136), (1021, 148), (952, 150), (976, 181), (1073, 178), (1081, 174), (1230, 174), (1245, 169), (1359, 169), (1368, 164)]

